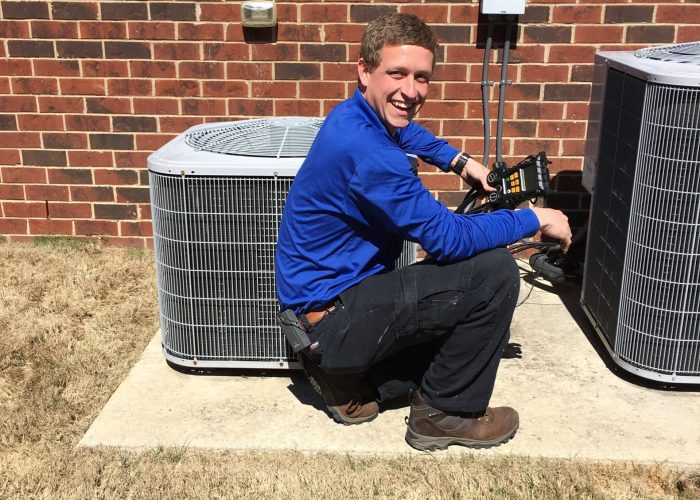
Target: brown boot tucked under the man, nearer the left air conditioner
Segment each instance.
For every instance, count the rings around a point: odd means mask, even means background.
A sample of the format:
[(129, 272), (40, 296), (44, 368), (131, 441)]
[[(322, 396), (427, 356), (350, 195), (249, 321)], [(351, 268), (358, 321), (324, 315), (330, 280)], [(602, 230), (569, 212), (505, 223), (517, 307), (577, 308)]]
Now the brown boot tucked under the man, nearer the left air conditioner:
[(353, 425), (377, 418), (377, 397), (364, 374), (334, 375), (322, 370), (308, 354), (300, 353), (300, 358), (311, 386), (323, 398), (333, 420)]

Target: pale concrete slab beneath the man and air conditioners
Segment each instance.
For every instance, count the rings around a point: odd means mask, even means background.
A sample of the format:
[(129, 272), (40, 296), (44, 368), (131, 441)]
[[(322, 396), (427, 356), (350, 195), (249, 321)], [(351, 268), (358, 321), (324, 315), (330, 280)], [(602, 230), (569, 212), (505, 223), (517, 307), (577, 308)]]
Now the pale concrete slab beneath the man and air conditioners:
[[(520, 412), (520, 430), (479, 453), (700, 464), (698, 387), (666, 391), (616, 375), (578, 306), (578, 290), (554, 294), (547, 282), (536, 285), (523, 282), (527, 300), (511, 333), (512, 351), (519, 345), (521, 353), (503, 360), (492, 398)], [(419, 453), (404, 441), (407, 414), (389, 410), (371, 423), (342, 426), (303, 374), (180, 373), (166, 364), (158, 333), (80, 445)], [(436, 455), (459, 453), (471, 450)]]

